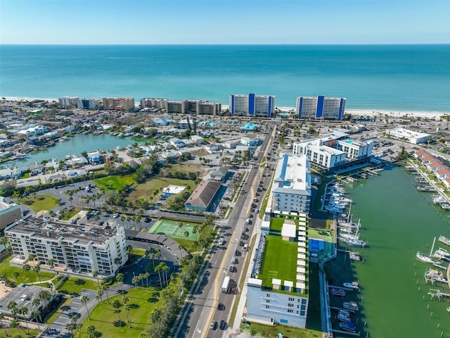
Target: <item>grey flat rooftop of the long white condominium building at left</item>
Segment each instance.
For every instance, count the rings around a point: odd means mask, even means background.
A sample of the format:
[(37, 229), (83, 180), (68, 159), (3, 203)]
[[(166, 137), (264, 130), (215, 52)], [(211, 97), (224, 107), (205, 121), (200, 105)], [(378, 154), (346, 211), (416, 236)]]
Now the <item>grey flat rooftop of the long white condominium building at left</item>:
[(34, 237), (52, 239), (53, 241), (60, 238), (70, 242), (77, 240), (79, 244), (89, 244), (89, 242), (105, 244), (108, 239), (117, 234), (115, 227), (110, 227), (108, 222), (103, 225), (70, 224), (56, 218), (33, 216), (18, 220), (8, 226), (6, 231), (27, 234), (27, 236), (34, 233)]

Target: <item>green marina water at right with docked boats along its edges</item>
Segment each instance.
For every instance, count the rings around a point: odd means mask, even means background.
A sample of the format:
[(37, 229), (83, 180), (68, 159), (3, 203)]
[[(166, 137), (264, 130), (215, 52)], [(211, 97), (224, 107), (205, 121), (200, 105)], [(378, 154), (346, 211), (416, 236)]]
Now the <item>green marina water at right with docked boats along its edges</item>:
[[(354, 262), (351, 269), (361, 285), (356, 296), (364, 309), (359, 328), (366, 322), (361, 337), (367, 332), (374, 338), (450, 337), (450, 299), (427, 294), (444, 284), (425, 284), (430, 266), (416, 259), (417, 251), (430, 253), (434, 237), (450, 237), (450, 213), (431, 203), (432, 193), (416, 190), (415, 177), (392, 167), (347, 189), (353, 220), (361, 218), (361, 238), (368, 242), (364, 263)], [(436, 243), (435, 249), (450, 250)]]

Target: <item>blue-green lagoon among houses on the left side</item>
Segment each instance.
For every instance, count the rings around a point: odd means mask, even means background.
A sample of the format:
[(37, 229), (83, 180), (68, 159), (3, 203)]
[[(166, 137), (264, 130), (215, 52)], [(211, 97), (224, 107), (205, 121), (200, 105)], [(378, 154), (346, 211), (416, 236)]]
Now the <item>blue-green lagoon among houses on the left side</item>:
[(23, 161), (15, 161), (13, 165), (25, 167), (35, 162), (41, 163), (44, 160), (51, 160), (52, 158), (60, 161), (65, 159), (67, 155), (80, 156), (82, 151), (112, 151), (117, 146), (123, 148), (129, 144), (134, 144), (134, 142), (130, 137), (120, 138), (110, 134), (76, 134), (74, 137), (68, 137), (64, 142), (56, 142), (55, 146), (49, 146), (49, 148), (37, 151), (34, 154), (29, 153), (27, 154), (27, 158)]

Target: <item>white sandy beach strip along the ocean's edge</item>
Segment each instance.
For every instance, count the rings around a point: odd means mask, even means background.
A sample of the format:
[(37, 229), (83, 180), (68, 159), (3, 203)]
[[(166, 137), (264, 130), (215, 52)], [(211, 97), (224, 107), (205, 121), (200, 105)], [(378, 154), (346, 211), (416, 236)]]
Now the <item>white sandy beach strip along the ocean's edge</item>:
[[(40, 97), (23, 97), (23, 96), (1, 96), (1, 101), (34, 101), (42, 100), (49, 102), (58, 102), (58, 99), (44, 99)], [(229, 105), (222, 104), (222, 108), (229, 108)], [(295, 111), (295, 107), (276, 107), (279, 111), (283, 113), (288, 113), (289, 111)], [(449, 112), (441, 111), (399, 111), (399, 110), (387, 110), (387, 109), (368, 109), (368, 108), (348, 108), (345, 109), (346, 114), (356, 115), (356, 116), (366, 116), (369, 118), (378, 118), (382, 120), (383, 118), (432, 118), (439, 120), (439, 118), (444, 117), (444, 115), (450, 115)]]

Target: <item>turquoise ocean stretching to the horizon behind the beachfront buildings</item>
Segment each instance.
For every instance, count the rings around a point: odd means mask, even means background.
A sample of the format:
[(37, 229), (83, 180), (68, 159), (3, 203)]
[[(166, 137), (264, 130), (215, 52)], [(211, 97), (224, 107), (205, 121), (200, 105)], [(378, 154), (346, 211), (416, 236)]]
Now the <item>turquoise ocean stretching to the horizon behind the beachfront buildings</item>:
[(450, 113), (444, 45), (0, 45), (0, 96), (337, 96), (346, 108)]

